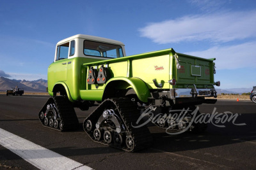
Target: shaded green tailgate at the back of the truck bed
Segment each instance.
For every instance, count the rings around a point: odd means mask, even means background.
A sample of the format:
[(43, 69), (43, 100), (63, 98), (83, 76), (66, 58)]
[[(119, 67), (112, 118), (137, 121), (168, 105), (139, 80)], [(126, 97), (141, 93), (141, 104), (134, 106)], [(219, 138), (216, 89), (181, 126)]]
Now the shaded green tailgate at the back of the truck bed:
[(177, 53), (180, 69), (177, 69), (175, 57), (173, 57), (173, 78), (177, 81), (176, 88), (209, 88), (214, 85), (215, 59), (203, 59), (191, 55)]

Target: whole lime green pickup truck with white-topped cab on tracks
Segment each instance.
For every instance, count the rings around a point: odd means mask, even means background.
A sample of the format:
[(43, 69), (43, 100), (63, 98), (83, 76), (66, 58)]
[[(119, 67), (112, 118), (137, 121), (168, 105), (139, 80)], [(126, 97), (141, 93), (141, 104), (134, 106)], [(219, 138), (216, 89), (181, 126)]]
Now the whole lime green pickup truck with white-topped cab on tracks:
[[(69, 131), (78, 127), (74, 107), (99, 106), (83, 123), (97, 143), (127, 152), (150, 145), (146, 125), (136, 126), (141, 113), (158, 127), (172, 131), (204, 131), (206, 124), (191, 122), (195, 105), (216, 103), (215, 59), (177, 53), (172, 48), (125, 55), (120, 41), (77, 34), (56, 45), (48, 67), (48, 92), (52, 96), (40, 110), (45, 127)], [(182, 118), (173, 111), (182, 110)], [(145, 114), (147, 111), (150, 113)], [(163, 117), (152, 118), (163, 115)], [(196, 114), (200, 114), (197, 111)]]

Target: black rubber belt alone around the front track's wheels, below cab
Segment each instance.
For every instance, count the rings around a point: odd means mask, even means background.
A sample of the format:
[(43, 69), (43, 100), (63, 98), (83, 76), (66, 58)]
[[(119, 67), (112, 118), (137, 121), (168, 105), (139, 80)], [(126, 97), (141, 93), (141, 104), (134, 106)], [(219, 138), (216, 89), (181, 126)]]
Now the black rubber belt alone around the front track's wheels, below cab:
[[(47, 104), (54, 102), (58, 113), (60, 114), (60, 120), (63, 122), (63, 129), (60, 128), (55, 129), (54, 127), (49, 127), (44, 125), (44, 120), (40, 120), (40, 113), (43, 111), (45, 113)], [(54, 129), (55, 131), (72, 131), (79, 127), (79, 122), (76, 116), (76, 112), (72, 103), (68, 100), (68, 97), (63, 96), (55, 96), (50, 97), (48, 101), (43, 106), (42, 110), (39, 112), (39, 120), (44, 127), (48, 127), (50, 129)], [(59, 122), (60, 123), (60, 122)]]

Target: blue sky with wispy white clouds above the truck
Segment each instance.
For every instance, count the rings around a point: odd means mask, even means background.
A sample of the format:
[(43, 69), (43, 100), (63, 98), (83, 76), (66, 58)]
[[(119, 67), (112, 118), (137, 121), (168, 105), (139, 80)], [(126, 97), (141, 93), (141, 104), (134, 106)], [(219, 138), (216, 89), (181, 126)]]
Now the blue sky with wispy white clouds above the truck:
[(0, 1), (0, 76), (47, 79), (56, 43), (88, 34), (122, 41), (127, 55), (173, 48), (215, 57), (221, 89), (251, 88), (255, 28), (248, 0)]

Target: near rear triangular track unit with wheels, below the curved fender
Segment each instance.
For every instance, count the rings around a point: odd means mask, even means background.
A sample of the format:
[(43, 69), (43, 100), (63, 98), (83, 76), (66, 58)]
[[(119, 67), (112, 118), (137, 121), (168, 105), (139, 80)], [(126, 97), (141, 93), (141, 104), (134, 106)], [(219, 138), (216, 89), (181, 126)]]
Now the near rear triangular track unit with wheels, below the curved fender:
[(134, 152), (152, 143), (146, 126), (132, 127), (139, 117), (137, 105), (131, 99), (106, 99), (84, 120), (83, 127), (97, 143)]

